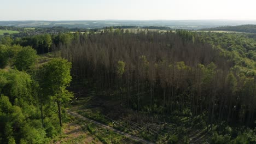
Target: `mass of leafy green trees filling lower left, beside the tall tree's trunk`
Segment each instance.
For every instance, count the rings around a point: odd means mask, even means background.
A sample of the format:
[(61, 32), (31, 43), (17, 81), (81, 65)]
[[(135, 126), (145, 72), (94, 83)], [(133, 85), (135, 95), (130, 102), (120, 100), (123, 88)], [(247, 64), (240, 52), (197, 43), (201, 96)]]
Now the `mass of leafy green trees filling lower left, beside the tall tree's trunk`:
[(33, 79), (25, 71), (0, 70), (0, 143), (45, 143), (47, 137), (58, 133), (57, 115), (48, 101), (43, 107), (45, 128), (42, 128), (40, 110)]

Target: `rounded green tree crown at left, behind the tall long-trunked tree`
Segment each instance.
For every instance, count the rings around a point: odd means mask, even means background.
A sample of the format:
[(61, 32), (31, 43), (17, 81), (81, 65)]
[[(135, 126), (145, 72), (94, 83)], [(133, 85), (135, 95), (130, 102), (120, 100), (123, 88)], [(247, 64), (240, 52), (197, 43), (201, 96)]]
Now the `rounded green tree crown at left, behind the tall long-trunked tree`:
[(29, 70), (37, 60), (37, 52), (32, 47), (24, 47), (14, 57), (14, 65), (18, 70)]

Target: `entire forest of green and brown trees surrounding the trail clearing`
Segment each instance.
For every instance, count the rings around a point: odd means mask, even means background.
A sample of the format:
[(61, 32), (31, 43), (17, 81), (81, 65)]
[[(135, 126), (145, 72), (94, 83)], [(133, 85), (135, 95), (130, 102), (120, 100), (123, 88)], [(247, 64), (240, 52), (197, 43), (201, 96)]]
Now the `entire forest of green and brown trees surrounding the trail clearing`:
[(1, 37), (0, 143), (53, 143), (71, 110), (153, 143), (256, 142), (254, 34), (40, 29)]

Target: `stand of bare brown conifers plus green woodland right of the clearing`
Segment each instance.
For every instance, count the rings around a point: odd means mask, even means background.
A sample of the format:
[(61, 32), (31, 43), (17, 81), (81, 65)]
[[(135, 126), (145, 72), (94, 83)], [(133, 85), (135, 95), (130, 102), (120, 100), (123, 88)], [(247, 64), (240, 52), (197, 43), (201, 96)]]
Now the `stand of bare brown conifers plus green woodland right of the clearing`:
[[(243, 135), (237, 129), (255, 128), (255, 39), (106, 29), (80, 35), (59, 50), (72, 62), (74, 78), (92, 79), (105, 98), (169, 122), (174, 116), (195, 118), (219, 131), (212, 143), (254, 141), (255, 130)], [(229, 128), (234, 130), (226, 133)]]

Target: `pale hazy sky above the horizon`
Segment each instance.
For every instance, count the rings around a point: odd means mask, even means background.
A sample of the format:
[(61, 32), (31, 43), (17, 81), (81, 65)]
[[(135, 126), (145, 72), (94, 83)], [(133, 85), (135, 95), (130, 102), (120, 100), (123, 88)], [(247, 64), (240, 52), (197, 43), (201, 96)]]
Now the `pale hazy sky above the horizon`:
[(0, 0), (2, 20), (256, 20), (256, 0)]

